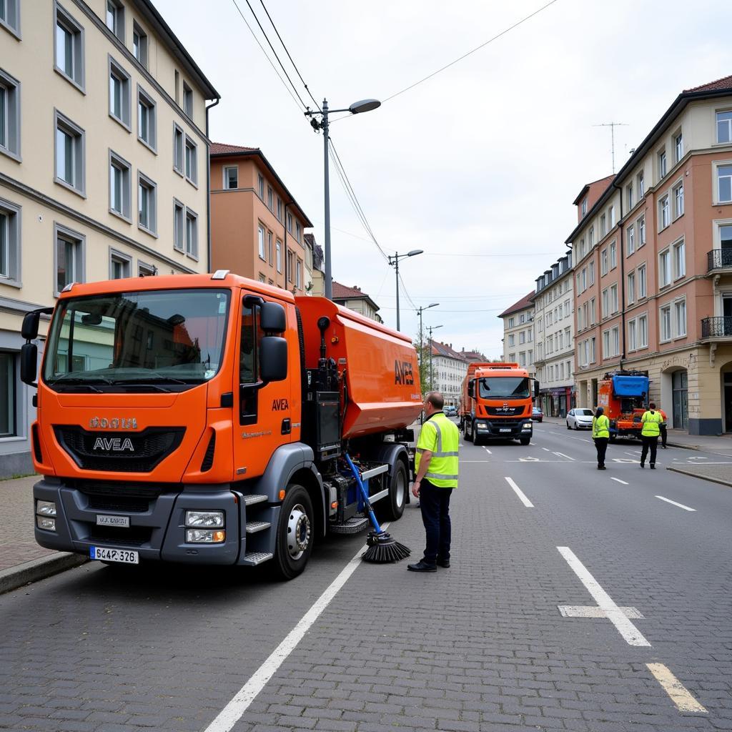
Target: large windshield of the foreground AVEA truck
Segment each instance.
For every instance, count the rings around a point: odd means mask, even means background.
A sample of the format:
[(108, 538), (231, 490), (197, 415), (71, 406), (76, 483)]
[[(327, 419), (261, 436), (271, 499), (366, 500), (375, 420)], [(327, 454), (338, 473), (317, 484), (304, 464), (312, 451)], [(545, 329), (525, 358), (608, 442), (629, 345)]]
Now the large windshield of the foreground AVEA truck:
[(63, 300), (53, 317), (44, 379), (71, 391), (203, 384), (219, 370), (229, 300), (228, 291), (209, 289)]

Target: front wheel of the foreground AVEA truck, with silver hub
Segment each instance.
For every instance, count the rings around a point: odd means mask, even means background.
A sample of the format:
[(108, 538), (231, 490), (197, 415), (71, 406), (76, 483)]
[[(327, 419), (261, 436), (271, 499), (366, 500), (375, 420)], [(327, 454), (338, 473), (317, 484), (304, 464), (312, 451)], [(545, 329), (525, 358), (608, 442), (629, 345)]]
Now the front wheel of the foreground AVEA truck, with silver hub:
[(310, 559), (315, 540), (313, 504), (302, 485), (288, 486), (275, 539), (275, 571), (283, 580), (297, 577)]

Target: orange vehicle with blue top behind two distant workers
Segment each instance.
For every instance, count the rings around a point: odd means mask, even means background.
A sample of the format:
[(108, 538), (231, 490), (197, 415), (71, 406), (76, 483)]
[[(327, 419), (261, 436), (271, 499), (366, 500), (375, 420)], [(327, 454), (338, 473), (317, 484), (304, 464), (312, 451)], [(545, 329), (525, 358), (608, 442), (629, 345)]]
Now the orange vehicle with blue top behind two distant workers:
[[(641, 438), (641, 417), (648, 403), (647, 371), (609, 371), (597, 387), (597, 406), (610, 419), (610, 441)], [(664, 415), (665, 417), (665, 415)]]

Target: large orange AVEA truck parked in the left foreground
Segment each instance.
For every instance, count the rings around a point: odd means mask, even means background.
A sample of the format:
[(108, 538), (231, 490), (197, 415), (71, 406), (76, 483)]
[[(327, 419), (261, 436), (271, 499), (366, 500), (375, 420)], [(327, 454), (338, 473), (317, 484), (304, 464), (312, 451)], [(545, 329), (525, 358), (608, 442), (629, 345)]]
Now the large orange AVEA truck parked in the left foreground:
[[(23, 322), (29, 384), (44, 312)], [(37, 542), (292, 578), (315, 537), (368, 524), (346, 451), (402, 515), (418, 373), (408, 337), (226, 270), (69, 285), (33, 384)]]

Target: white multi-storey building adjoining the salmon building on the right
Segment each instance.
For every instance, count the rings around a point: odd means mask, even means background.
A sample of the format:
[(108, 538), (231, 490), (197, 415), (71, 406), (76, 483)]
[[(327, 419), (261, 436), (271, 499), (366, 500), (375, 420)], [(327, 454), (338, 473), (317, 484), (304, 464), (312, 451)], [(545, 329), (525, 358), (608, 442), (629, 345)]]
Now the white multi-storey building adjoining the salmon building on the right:
[(575, 406), (575, 327), (572, 252), (537, 277), (534, 294), (534, 366), (542, 411), (566, 417)]

